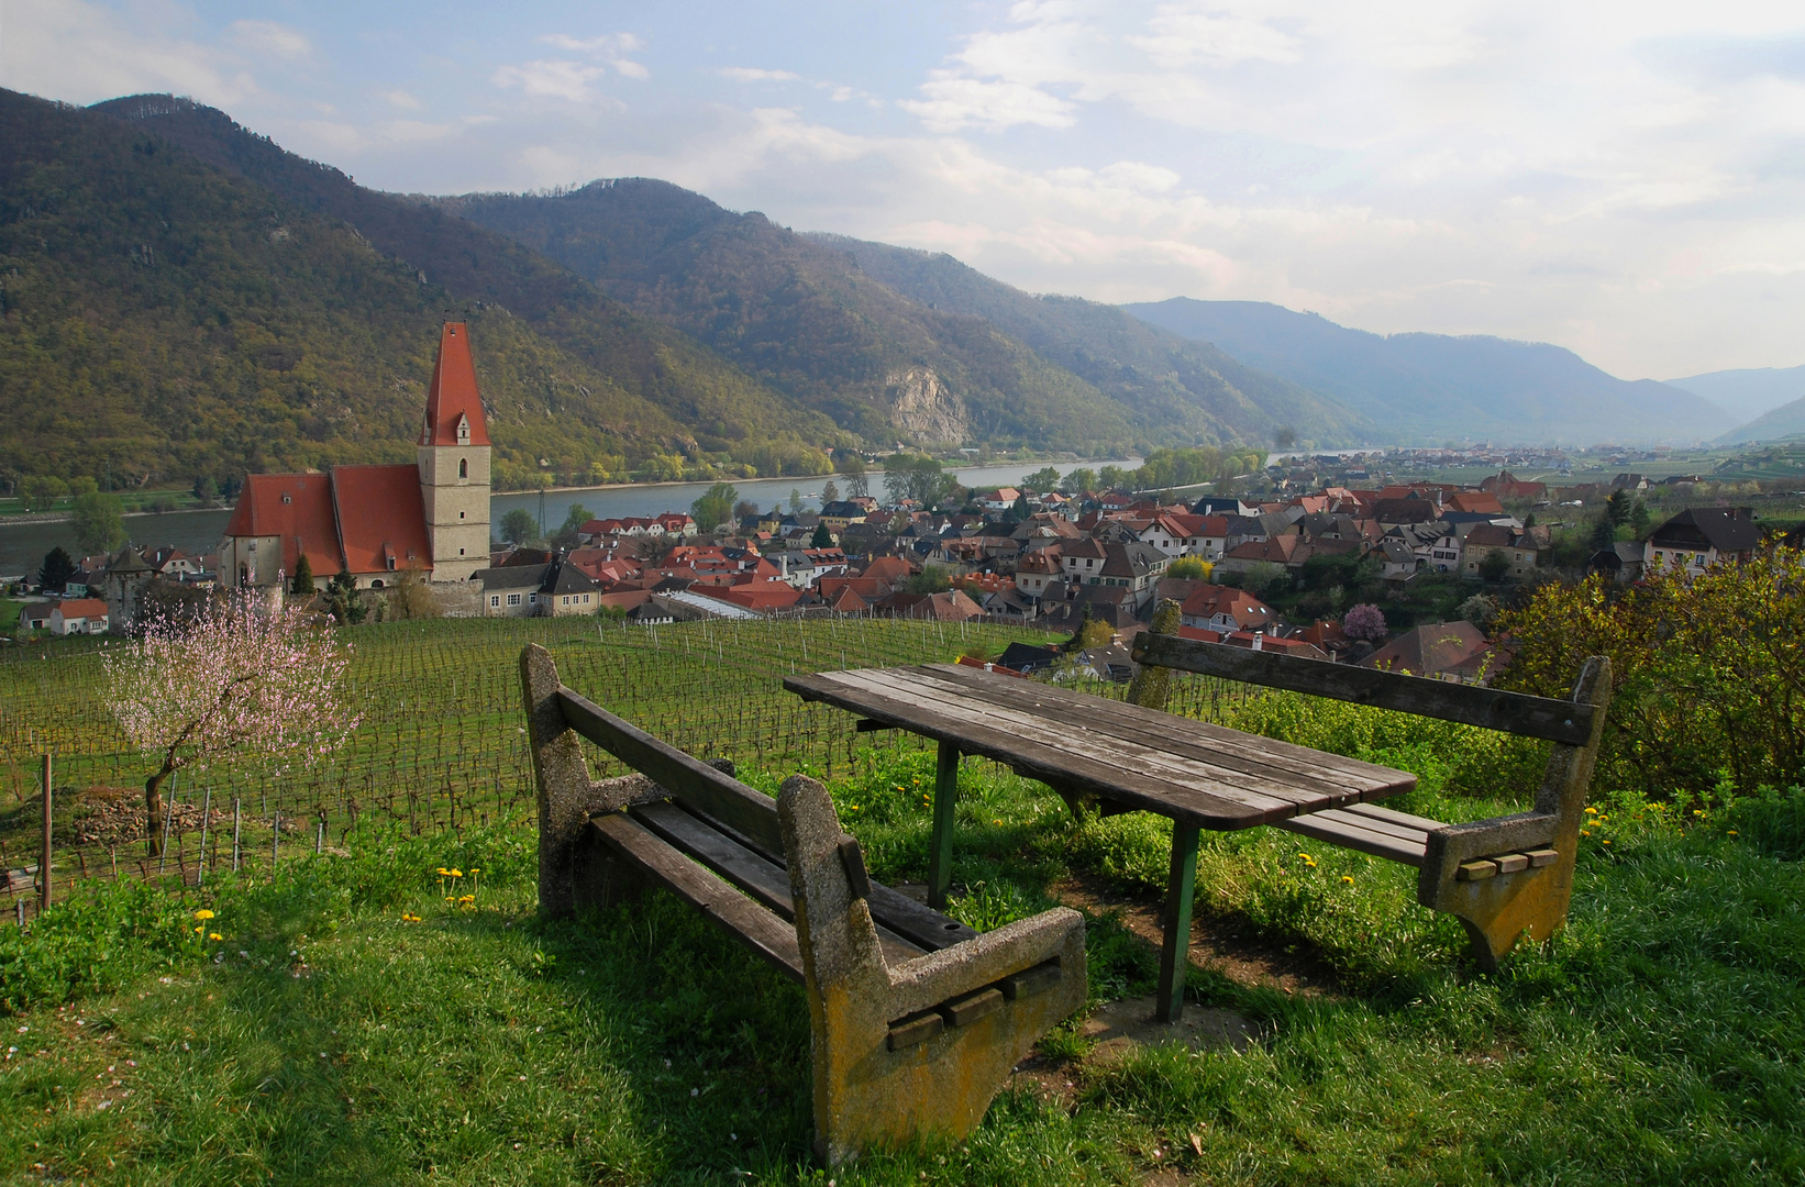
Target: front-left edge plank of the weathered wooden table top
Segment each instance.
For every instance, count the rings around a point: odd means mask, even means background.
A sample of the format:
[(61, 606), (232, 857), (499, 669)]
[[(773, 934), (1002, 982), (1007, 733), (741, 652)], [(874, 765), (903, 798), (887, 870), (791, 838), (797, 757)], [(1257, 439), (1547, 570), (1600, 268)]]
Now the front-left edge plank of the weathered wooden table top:
[(1096, 796), (1132, 810), (1157, 812), (1175, 821), (1195, 823), (1200, 828), (1253, 828), (1254, 824), (1285, 819), (1298, 812), (1298, 805), (1294, 803), (1267, 797), (1254, 799), (1249, 796), (1211, 796), (1175, 787), (1164, 779), (1150, 779), (1137, 772), (1123, 770), (1108, 759), (1092, 759), (1040, 745), (1025, 745), (1022, 738), (998, 729), (948, 720), (946, 714), (924, 713), (921, 705), (912, 704), (908, 698), (847, 687), (821, 676), (787, 676), (783, 687), (803, 700), (821, 700), (890, 722), (899, 729), (908, 729), (935, 741), (951, 741), (962, 754), (996, 759), (1014, 772), (1029, 779), (1040, 779), (1056, 790), (1076, 796)]

